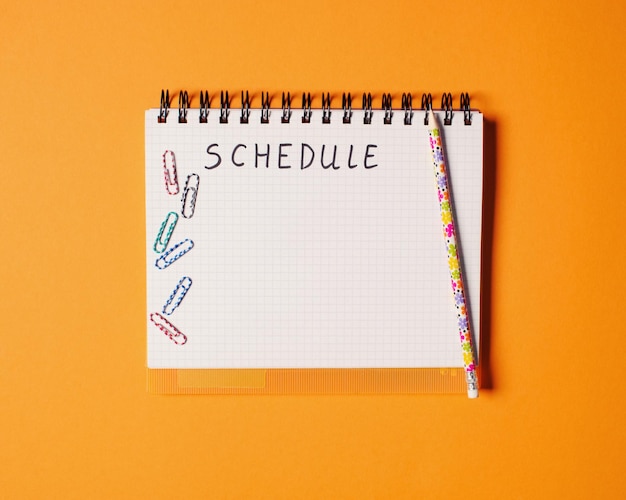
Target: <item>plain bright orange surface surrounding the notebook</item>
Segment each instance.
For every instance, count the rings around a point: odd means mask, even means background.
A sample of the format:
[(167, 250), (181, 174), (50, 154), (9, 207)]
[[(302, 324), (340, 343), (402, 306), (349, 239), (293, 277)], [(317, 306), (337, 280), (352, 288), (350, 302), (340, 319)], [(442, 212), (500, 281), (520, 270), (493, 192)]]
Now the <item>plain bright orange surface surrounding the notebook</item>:
[[(3, 4), (0, 497), (623, 495), (624, 2)], [(161, 88), (468, 91), (480, 399), (147, 394)]]

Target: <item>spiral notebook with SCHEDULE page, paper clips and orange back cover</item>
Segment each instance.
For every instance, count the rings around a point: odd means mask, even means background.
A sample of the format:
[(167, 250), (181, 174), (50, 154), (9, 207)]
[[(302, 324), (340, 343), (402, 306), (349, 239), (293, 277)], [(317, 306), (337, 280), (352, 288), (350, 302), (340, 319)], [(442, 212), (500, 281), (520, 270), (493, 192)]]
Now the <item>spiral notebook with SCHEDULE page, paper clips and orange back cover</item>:
[[(148, 389), (464, 392), (430, 95), (260, 97), (145, 113)], [(452, 104), (435, 112), (478, 346), (482, 114)]]

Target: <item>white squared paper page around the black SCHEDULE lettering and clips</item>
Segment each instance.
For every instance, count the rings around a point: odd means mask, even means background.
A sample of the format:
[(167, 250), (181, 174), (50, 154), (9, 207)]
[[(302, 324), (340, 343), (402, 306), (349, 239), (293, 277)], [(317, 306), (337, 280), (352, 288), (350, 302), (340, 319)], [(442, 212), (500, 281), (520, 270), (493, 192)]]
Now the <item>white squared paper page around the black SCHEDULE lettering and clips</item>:
[[(211, 110), (209, 123), (170, 116), (157, 123), (146, 112), (147, 303), (161, 312), (181, 277), (193, 284), (171, 316), (188, 338), (175, 345), (149, 320), (149, 368), (405, 368), (460, 367), (462, 357), (434, 187), (428, 133), (420, 113), (406, 126), (375, 113), (363, 125), (355, 111), (330, 124), (313, 110), (310, 124), (294, 112), (290, 124), (274, 110), (260, 124), (231, 112), (228, 124)], [(463, 271), (478, 345), (482, 210), (482, 115), (472, 126), (458, 117), (443, 134), (454, 196)], [(300, 168), (300, 144), (310, 144), (314, 163)], [(278, 144), (290, 169), (279, 169)], [(208, 170), (215, 156), (222, 163)], [(244, 167), (231, 163), (236, 153)], [(270, 167), (259, 158), (270, 145)], [(323, 169), (338, 146), (341, 168)], [(354, 145), (353, 161), (347, 153)], [(376, 144), (363, 167), (367, 144)], [(330, 148), (330, 149), (329, 149)], [(176, 155), (181, 192), (165, 191), (162, 155)], [(196, 211), (180, 216), (187, 176), (200, 176)], [(161, 222), (179, 214), (168, 248), (190, 238), (194, 248), (164, 270), (153, 250)]]

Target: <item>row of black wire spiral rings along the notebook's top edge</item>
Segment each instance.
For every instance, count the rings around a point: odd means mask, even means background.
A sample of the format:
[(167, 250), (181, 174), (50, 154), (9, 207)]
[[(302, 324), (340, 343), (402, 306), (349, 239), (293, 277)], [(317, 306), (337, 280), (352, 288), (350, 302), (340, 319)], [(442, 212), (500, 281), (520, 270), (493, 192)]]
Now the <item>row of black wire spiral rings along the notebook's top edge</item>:
[[(373, 119), (372, 94), (363, 93), (363, 123), (369, 125)], [(311, 93), (302, 94), (302, 123), (311, 123)], [(178, 123), (187, 123), (187, 114), (190, 107), (189, 94), (186, 90), (180, 91), (178, 94)], [(209, 108), (211, 107), (208, 91), (200, 92), (199, 122), (208, 123)], [(343, 123), (352, 123), (352, 94), (344, 92), (341, 99), (341, 107), (343, 110)], [(161, 90), (161, 103), (159, 106), (158, 123), (167, 123), (167, 117), (170, 108), (169, 90)], [(390, 125), (393, 119), (392, 95), (383, 93), (381, 109), (383, 111), (383, 123)], [(430, 93), (422, 94), (421, 109), (424, 113), (424, 125), (428, 125), (430, 113), (433, 111), (433, 98)], [(453, 97), (450, 92), (441, 96), (441, 110), (444, 112), (444, 126), (452, 125), (454, 117)], [(261, 92), (261, 123), (269, 123), (271, 111), (271, 96), (269, 92)], [(413, 124), (413, 96), (411, 93), (402, 94), (402, 111), (404, 113), (404, 124)], [(459, 111), (463, 112), (463, 123), (472, 125), (472, 111), (470, 107), (470, 96), (467, 92), (461, 93)], [(330, 123), (331, 119), (331, 95), (330, 93), (322, 94), (322, 123)], [(228, 123), (230, 114), (230, 98), (228, 91), (220, 92), (220, 123)], [(250, 118), (250, 94), (249, 92), (241, 92), (241, 118), (240, 123), (249, 123)], [(282, 113), (281, 122), (290, 123), (291, 120), (291, 93), (283, 92), (282, 94)]]

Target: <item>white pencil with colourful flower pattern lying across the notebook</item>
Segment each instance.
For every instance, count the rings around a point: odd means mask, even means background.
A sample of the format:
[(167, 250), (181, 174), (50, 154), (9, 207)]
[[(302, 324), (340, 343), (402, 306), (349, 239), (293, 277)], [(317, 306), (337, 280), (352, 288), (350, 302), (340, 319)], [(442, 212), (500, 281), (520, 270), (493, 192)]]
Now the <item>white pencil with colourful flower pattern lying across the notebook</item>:
[(432, 110), (430, 115), (431, 118), (428, 125), (428, 135), (435, 170), (435, 185), (437, 187), (439, 209), (441, 211), (441, 222), (443, 224), (443, 237), (446, 253), (448, 255), (450, 283), (452, 285), (452, 295), (454, 297), (454, 305), (456, 308), (459, 327), (459, 339), (461, 340), (461, 350), (463, 353), (463, 368), (465, 370), (465, 378), (467, 380), (467, 395), (470, 398), (477, 398), (478, 378), (476, 376), (476, 361), (474, 358), (474, 346), (468, 315), (468, 305), (465, 300), (463, 273), (461, 271), (461, 261), (459, 259), (459, 251), (456, 241), (456, 226), (453, 219), (452, 196), (450, 194), (448, 172), (437, 117)]

